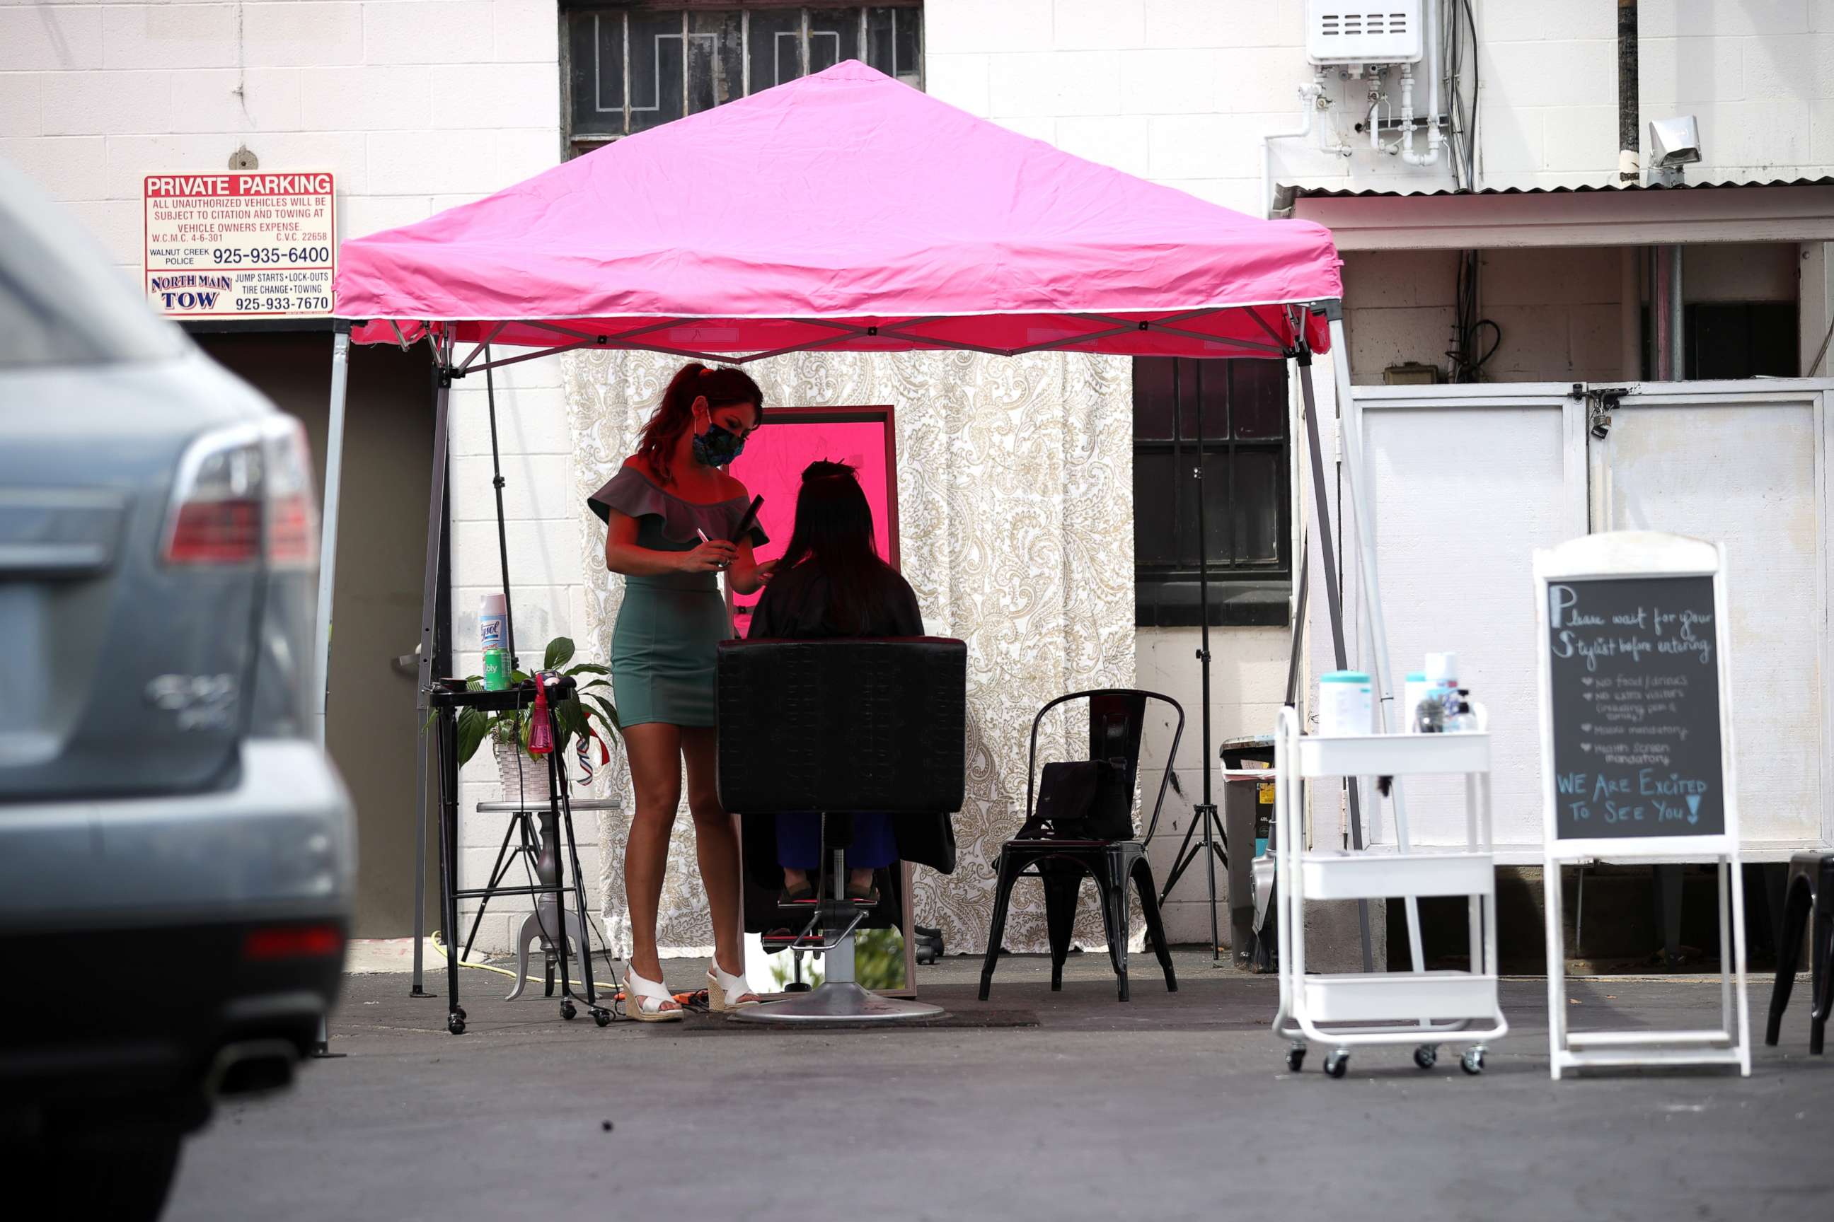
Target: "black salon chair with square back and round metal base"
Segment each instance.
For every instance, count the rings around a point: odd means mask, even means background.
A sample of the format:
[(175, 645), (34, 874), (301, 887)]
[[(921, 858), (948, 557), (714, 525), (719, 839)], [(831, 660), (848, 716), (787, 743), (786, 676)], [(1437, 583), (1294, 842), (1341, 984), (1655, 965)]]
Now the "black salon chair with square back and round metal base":
[(735, 1019), (860, 1022), (941, 1013), (878, 997), (855, 980), (853, 934), (871, 912), (845, 898), (840, 824), (855, 810), (908, 817), (961, 810), (967, 683), (968, 647), (941, 638), (721, 643), (721, 802), (741, 819), (820, 812), (831, 861), (825, 898), (790, 909), (792, 920), (807, 922), (794, 945), (825, 955), (822, 986), (746, 1006)]

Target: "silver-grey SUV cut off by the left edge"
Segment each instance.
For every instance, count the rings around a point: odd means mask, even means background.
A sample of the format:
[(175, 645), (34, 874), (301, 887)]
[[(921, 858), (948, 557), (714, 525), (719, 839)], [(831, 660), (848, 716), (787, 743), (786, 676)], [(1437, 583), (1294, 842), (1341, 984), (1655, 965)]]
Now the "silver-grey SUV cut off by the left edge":
[(0, 161), (0, 1160), (70, 1217), (158, 1217), (336, 1000), (317, 548), (299, 425)]

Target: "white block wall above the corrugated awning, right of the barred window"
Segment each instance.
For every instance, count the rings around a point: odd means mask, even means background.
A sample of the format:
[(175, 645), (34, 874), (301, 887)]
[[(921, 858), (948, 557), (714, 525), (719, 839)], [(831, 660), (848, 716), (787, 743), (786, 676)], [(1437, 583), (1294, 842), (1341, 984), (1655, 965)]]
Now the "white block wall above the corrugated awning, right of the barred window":
[[(1447, 0), (1451, 2), (1451, 0)], [(1480, 185), (1574, 187), (1618, 170), (1618, 5), (1473, 0)], [(1834, 0), (1641, 0), (1643, 119), (1695, 114), (1689, 181), (1834, 170)], [(1060, 148), (1262, 214), (1260, 141), (1293, 128), (1304, 0), (928, 0), (928, 88)], [(1346, 139), (1364, 86), (1326, 75)], [(1398, 99), (1396, 99), (1398, 104)], [(1425, 82), (1418, 86), (1425, 110)], [(1315, 134), (1317, 136), (1317, 134)], [(1275, 143), (1275, 181), (1431, 191), (1434, 169)]]

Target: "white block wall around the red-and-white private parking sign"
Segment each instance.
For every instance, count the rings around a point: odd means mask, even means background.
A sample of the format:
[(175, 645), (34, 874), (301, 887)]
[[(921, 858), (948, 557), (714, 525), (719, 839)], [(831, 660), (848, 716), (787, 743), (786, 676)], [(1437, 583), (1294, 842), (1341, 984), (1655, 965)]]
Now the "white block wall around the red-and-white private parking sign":
[[(262, 169), (334, 170), (339, 236), (354, 238), (559, 161), (558, 29), (554, 0), (0, 4), (0, 158), (70, 205), (134, 278), (141, 176), (227, 167), (242, 145)], [(528, 652), (581, 621), (559, 366), (504, 370), (497, 410)], [(499, 572), (482, 385), (455, 388), (451, 453), (453, 616), (458, 665), (475, 672), (477, 599)], [(495, 797), (481, 753), (462, 808)], [(495, 817), (462, 821), (464, 885), (484, 881), (501, 834)], [(596, 861), (581, 865), (598, 878)], [(526, 907), (497, 901), (479, 944), (508, 945)]]

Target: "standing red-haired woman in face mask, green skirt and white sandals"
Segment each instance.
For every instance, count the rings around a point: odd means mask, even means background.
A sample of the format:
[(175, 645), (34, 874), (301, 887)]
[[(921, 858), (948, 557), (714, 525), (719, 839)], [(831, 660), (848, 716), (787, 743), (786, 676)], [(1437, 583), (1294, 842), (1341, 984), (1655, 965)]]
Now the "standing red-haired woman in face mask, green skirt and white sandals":
[(611, 682), (636, 790), (624, 850), (633, 942), (624, 993), (631, 1017), (644, 1022), (682, 1017), (662, 984), (657, 907), (684, 764), (713, 916), (708, 1002), (713, 1009), (757, 1002), (739, 942), (739, 841), (713, 788), (713, 669), (719, 641), (732, 636), (719, 573), (737, 594), (770, 577), (770, 564), (752, 561), (752, 546), (767, 542), (763, 531), (728, 542), (750, 502), (745, 486), (723, 471), (763, 418), (763, 394), (750, 377), (684, 365), (636, 453), (591, 496), (607, 526), (605, 568), (625, 579), (611, 641)]

